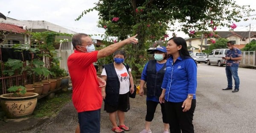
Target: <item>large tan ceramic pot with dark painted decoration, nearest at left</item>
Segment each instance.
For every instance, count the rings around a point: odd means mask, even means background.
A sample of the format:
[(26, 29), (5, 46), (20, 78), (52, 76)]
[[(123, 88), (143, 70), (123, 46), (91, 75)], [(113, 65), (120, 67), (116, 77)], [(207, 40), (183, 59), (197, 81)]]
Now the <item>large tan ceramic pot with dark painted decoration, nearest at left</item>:
[(26, 93), (23, 97), (12, 97), (13, 93), (0, 95), (0, 104), (8, 118), (19, 118), (33, 113), (37, 93)]

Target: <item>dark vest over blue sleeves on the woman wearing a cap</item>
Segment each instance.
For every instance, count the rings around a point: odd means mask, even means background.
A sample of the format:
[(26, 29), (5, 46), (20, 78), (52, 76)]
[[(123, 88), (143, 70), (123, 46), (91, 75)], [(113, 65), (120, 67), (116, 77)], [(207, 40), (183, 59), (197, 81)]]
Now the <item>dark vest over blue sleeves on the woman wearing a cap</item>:
[(148, 61), (147, 66), (147, 96), (157, 96), (160, 97), (162, 94), (161, 85), (163, 83), (163, 76), (166, 72), (166, 63), (157, 72), (156, 71), (156, 60)]

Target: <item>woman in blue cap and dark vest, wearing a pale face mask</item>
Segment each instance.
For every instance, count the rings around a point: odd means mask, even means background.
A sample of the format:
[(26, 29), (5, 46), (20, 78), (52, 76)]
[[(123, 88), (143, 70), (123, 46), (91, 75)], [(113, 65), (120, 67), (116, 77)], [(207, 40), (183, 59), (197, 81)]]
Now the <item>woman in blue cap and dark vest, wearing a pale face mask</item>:
[[(157, 47), (157, 49), (152, 52), (154, 52), (155, 60), (150, 60), (145, 64), (140, 78), (140, 96), (143, 96), (143, 86), (147, 83), (147, 114), (145, 117), (145, 129), (140, 133), (151, 133), (150, 124), (154, 118), (154, 113), (159, 103), (159, 97), (162, 93), (161, 85), (163, 82), (163, 76), (166, 72), (166, 59), (168, 58), (166, 47)], [(169, 133), (169, 124), (167, 122), (164, 105), (160, 103), (160, 106), (163, 115), (163, 133)]]

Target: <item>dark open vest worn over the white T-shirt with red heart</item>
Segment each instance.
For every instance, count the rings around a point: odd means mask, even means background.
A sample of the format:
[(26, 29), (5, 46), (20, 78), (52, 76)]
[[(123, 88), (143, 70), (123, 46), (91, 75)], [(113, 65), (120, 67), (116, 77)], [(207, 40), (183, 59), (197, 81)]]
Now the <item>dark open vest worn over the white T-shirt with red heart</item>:
[[(124, 64), (125, 68), (127, 69), (129, 66)], [(116, 74), (116, 70), (114, 64), (106, 64), (104, 65), (105, 71), (107, 73), (107, 81), (106, 81), (106, 97), (105, 102), (109, 105), (117, 105), (119, 99), (119, 89), (120, 89), (120, 82), (118, 76)]]

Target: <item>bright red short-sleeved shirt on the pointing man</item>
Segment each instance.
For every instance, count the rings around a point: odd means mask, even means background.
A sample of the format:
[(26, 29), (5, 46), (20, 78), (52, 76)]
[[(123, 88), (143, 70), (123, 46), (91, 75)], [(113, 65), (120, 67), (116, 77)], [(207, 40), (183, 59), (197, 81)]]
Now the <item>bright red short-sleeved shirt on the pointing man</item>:
[(82, 53), (75, 50), (67, 59), (68, 71), (73, 86), (72, 101), (76, 111), (95, 111), (102, 106), (102, 93), (93, 62), (98, 51)]

